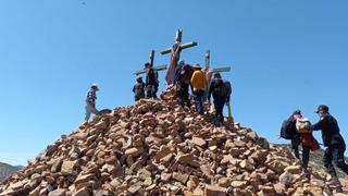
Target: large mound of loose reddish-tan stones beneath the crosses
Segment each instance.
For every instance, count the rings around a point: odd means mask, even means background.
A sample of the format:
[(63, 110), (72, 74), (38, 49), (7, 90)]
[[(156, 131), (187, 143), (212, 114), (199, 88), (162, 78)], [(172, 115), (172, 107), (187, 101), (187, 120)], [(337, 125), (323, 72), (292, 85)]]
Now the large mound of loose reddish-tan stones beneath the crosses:
[(238, 123), (214, 126), (175, 105), (140, 100), (63, 135), (1, 186), (2, 195), (333, 195), (286, 148)]

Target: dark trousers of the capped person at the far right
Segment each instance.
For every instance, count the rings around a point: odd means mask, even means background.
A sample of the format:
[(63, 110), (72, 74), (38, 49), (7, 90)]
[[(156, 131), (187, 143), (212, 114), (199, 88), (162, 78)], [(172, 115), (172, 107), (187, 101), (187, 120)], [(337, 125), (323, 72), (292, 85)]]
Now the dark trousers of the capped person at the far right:
[(337, 168), (339, 168), (341, 171), (344, 171), (346, 174), (348, 174), (348, 166), (345, 161), (345, 151), (346, 151), (346, 145), (331, 145), (325, 149), (324, 152), (324, 166), (326, 168), (326, 171), (332, 176), (337, 176), (336, 170), (333, 166), (333, 160)]

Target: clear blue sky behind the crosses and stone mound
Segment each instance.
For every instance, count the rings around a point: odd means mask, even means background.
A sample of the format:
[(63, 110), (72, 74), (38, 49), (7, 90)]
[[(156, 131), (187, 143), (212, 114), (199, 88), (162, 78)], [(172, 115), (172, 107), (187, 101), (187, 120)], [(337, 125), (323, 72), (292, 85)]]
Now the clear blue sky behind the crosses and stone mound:
[[(295, 109), (331, 107), (348, 142), (345, 0), (2, 0), (0, 161), (26, 164), (83, 122), (91, 83), (98, 108), (133, 103), (134, 70), (184, 29), (189, 63), (232, 65), (233, 113), (274, 143)], [(164, 74), (161, 73), (163, 88)], [(321, 142), (320, 134), (315, 134)]]

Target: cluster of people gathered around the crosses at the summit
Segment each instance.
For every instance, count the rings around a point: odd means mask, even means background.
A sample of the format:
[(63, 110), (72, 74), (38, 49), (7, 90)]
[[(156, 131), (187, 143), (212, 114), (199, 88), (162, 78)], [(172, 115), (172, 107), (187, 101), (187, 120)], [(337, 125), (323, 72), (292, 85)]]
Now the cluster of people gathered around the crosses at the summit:
[[(133, 87), (136, 101), (141, 98), (157, 98), (158, 73), (149, 63), (146, 63), (145, 66), (146, 82), (142, 82), (142, 77), (138, 77)], [(171, 79), (172, 84), (167, 84), (167, 88), (174, 88), (177, 102), (182, 107), (188, 108), (191, 107), (189, 96), (189, 89), (191, 89), (196, 111), (199, 114), (204, 113), (203, 102), (211, 103), (211, 96), (213, 96), (217, 124), (222, 124), (224, 120), (223, 108), (225, 105), (229, 105), (231, 84), (222, 79), (220, 73), (215, 73), (214, 78), (210, 79), (208, 72), (209, 70), (203, 71), (199, 64), (189, 65), (184, 61), (179, 61)]]

